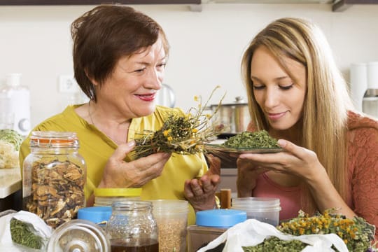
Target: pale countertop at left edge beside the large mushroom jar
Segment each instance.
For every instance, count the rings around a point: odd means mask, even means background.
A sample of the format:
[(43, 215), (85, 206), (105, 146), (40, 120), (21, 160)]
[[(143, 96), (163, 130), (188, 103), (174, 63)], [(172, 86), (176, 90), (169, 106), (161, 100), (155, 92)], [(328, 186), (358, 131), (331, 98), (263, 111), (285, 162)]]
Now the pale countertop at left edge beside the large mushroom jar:
[(20, 168), (0, 169), (0, 199), (20, 190), (21, 186)]

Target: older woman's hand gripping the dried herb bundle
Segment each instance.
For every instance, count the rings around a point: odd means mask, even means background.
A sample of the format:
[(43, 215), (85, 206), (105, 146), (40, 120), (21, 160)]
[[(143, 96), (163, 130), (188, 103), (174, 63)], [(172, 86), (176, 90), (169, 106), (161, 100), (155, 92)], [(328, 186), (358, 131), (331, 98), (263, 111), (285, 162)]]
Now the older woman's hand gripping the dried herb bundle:
[(127, 153), (130, 153), (134, 146), (134, 141), (118, 146), (106, 163), (99, 188), (139, 188), (160, 176), (171, 155), (155, 153), (132, 162), (125, 162)]

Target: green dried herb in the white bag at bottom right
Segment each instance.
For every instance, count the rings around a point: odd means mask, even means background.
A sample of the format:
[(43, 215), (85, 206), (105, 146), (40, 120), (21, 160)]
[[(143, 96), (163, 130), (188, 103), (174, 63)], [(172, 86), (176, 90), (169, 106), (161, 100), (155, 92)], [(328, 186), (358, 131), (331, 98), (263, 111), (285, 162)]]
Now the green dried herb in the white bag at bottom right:
[(299, 240), (283, 241), (277, 237), (270, 237), (256, 246), (242, 247), (244, 252), (300, 252), (307, 244)]

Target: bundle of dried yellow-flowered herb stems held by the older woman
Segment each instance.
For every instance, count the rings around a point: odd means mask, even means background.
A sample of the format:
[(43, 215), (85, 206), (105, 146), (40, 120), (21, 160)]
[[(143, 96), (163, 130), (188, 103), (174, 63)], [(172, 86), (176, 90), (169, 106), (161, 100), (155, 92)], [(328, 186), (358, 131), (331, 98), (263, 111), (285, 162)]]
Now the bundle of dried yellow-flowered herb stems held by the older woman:
[(144, 130), (144, 132), (136, 133), (139, 138), (135, 139), (134, 158), (142, 158), (158, 152), (183, 155), (202, 153), (204, 144), (214, 140), (218, 134), (225, 130), (224, 125), (211, 123), (211, 119), (221, 106), (224, 95), (213, 114), (204, 113), (209, 100), (219, 87), (214, 88), (204, 105), (202, 105), (201, 97), (195, 97), (195, 101), (199, 102), (197, 109), (191, 108), (184, 116), (169, 115), (160, 130), (155, 132)]

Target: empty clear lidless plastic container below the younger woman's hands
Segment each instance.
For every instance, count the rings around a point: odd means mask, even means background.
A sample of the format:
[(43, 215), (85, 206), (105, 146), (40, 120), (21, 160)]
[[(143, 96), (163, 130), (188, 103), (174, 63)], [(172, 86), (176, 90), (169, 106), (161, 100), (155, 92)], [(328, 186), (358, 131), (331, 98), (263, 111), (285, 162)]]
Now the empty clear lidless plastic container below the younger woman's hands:
[(269, 223), (279, 224), (279, 199), (269, 197), (242, 197), (232, 199), (232, 209), (246, 211), (247, 218)]

